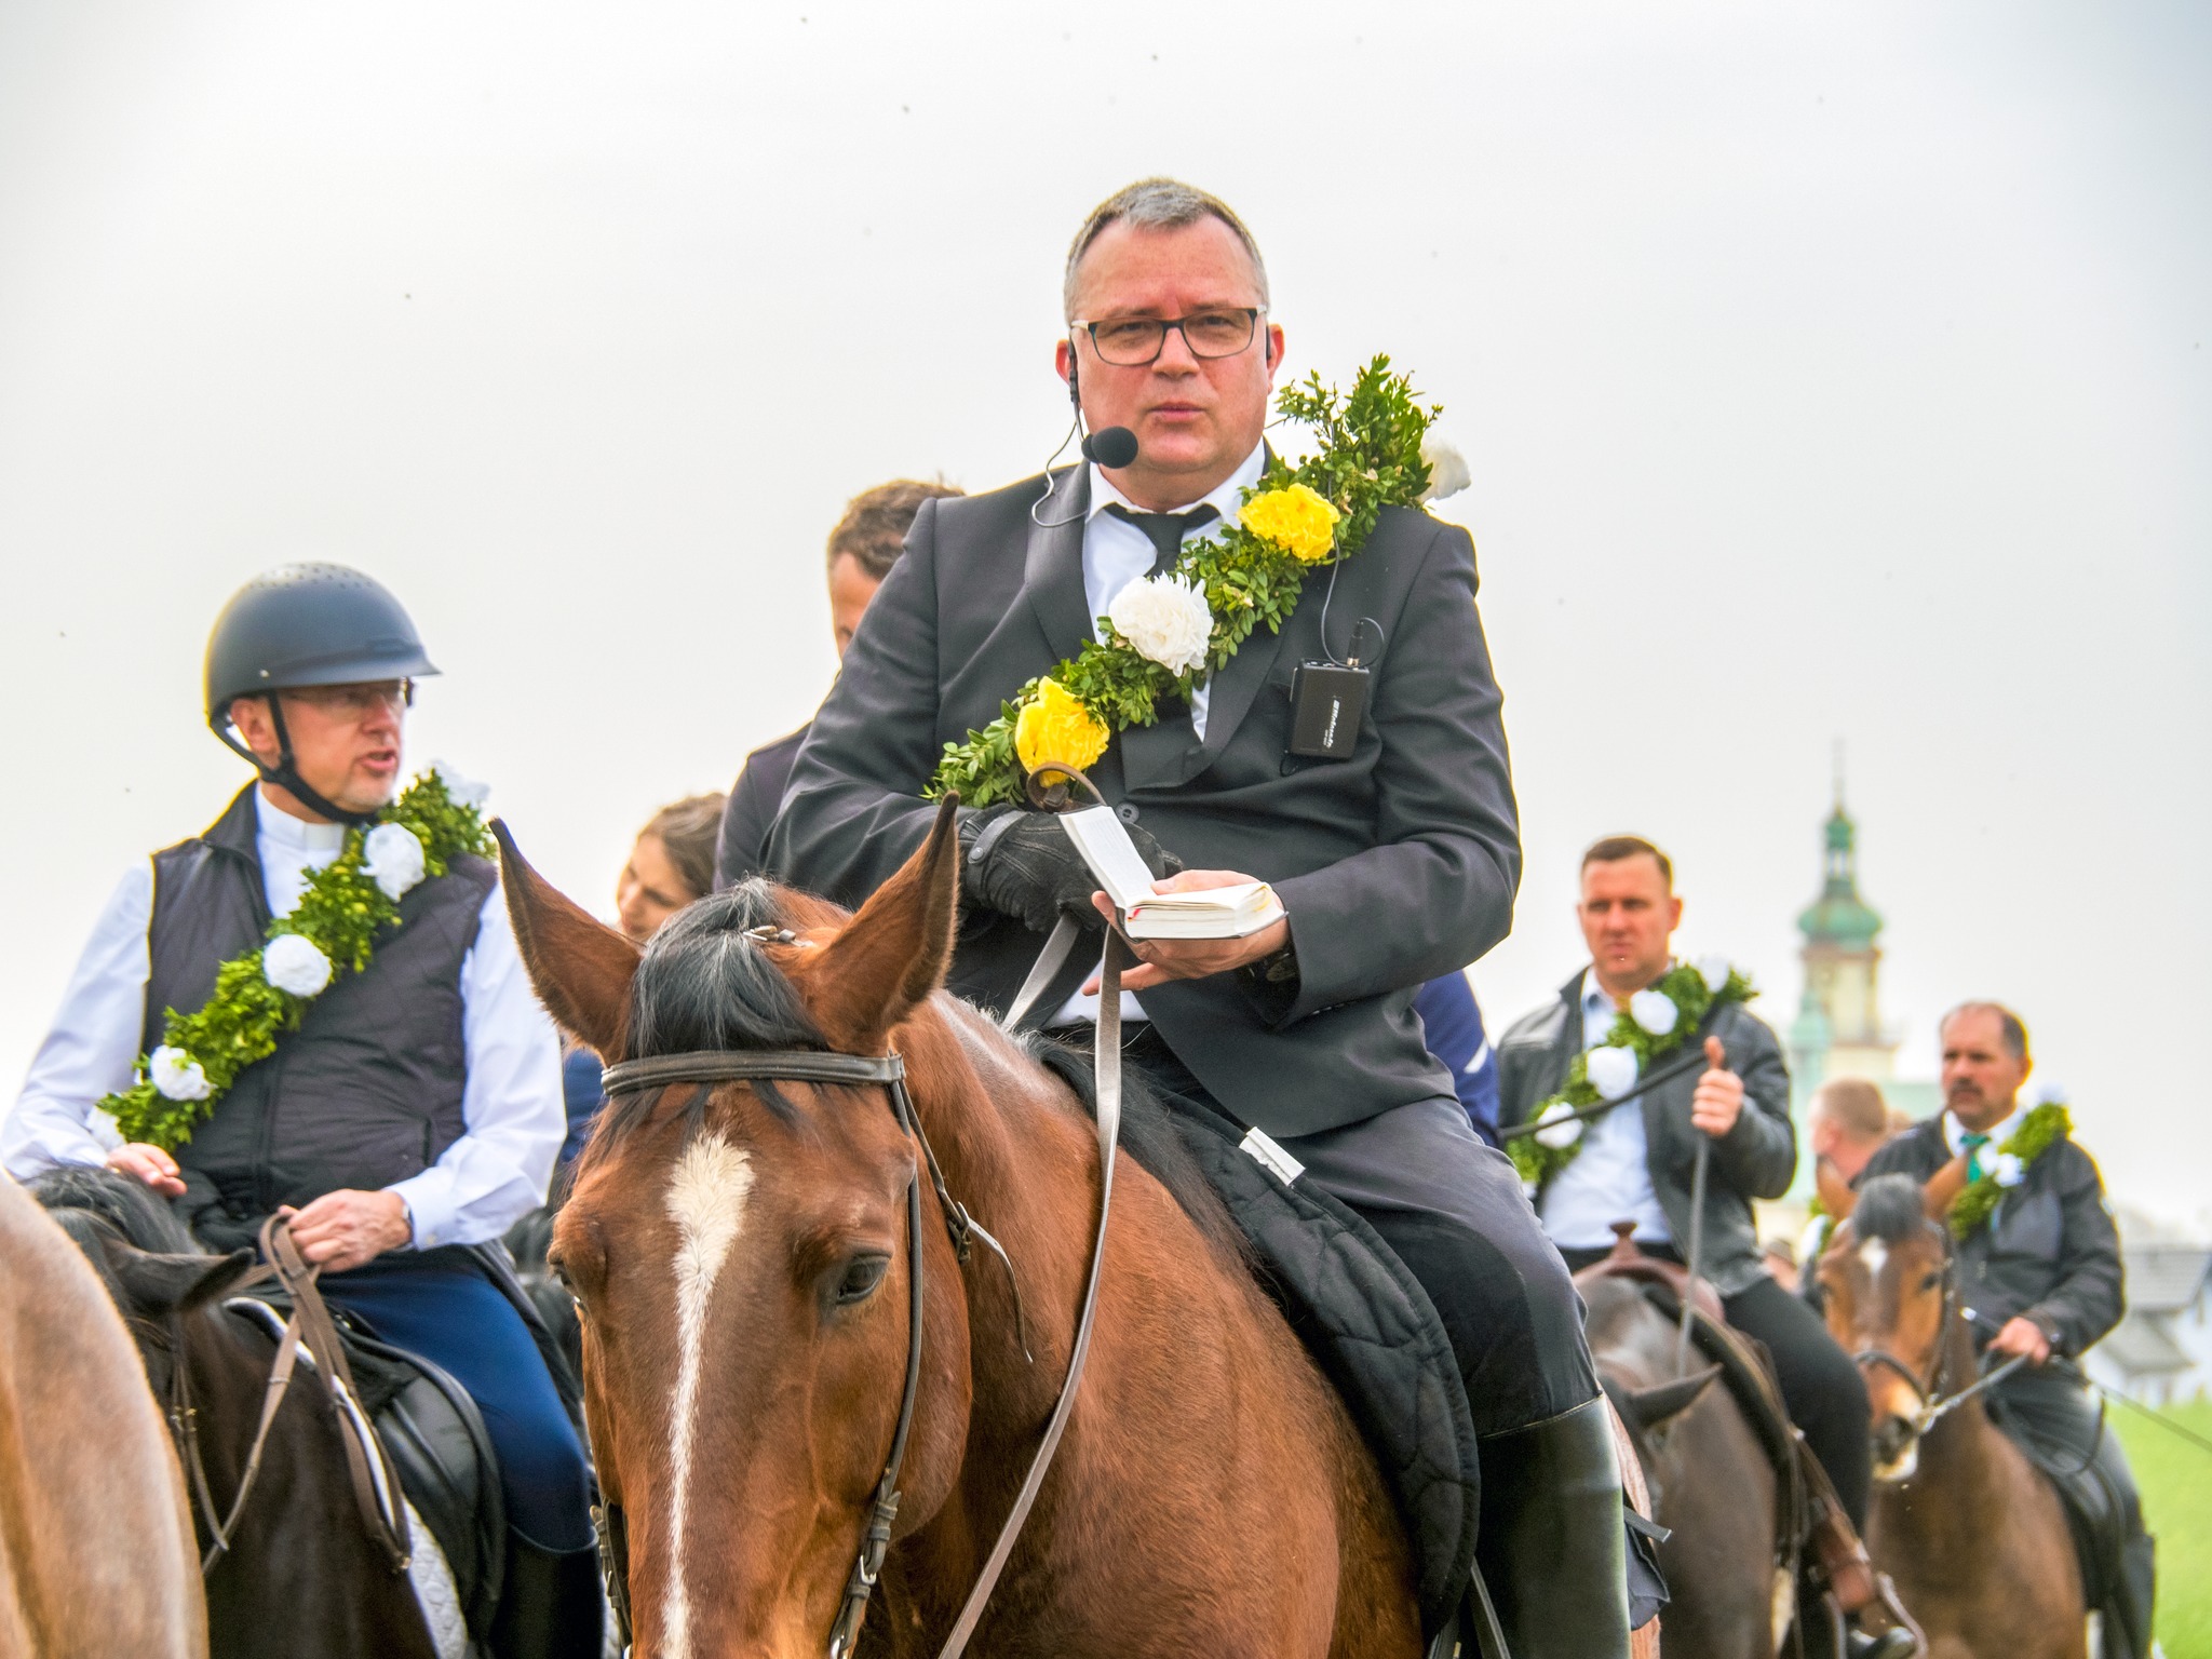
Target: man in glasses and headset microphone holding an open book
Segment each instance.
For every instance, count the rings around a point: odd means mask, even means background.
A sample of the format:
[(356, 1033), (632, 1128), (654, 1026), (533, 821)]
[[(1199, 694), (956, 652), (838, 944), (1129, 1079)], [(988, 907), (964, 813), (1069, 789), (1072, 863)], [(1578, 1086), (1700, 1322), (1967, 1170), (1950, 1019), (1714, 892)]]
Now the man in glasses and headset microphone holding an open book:
[[(927, 502), (814, 721), (770, 860), (856, 902), (920, 843), (949, 741), (1091, 637), (1124, 584), (1234, 518), (1265, 465), (1283, 332), (1250, 232), (1150, 179), (1102, 204), (1068, 254), (1057, 369), (1128, 467), (1075, 467)], [(1102, 334), (1106, 349), (1102, 352)], [(1389, 509), (1334, 602), (1307, 593), (1190, 706), (1133, 728), (1091, 776), (1186, 885), (1263, 878), (1287, 920), (1245, 940), (1150, 942), (1128, 975), (1130, 1057), (1170, 1097), (1272, 1135), (1407, 1261), (1451, 1332), (1482, 1436), (1480, 1562), (1513, 1652), (1626, 1652), (1619, 1469), (1579, 1305), (1511, 1164), (1482, 1146), (1422, 1044), (1416, 989), (1495, 945), (1520, 841), (1500, 697), (1464, 531)], [(1318, 586), (1318, 584), (1316, 584)], [(1325, 653), (1321, 626), (1329, 617)], [(1301, 661), (1387, 641), (1347, 759), (1292, 757)], [(1088, 872), (1055, 823), (964, 810), (967, 905), (951, 982), (1004, 1009)], [(1095, 925), (1095, 918), (1093, 918)], [(1084, 953), (1037, 1002), (1095, 1022)]]

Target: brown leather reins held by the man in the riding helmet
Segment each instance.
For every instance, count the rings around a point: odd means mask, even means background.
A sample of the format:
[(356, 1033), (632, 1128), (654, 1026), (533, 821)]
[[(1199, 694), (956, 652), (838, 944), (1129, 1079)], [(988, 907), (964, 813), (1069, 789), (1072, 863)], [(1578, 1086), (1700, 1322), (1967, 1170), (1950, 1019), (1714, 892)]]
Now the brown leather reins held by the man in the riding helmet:
[(186, 1356), (184, 1316), (170, 1314), (168, 1318), (173, 1356), (168, 1422), (177, 1440), (177, 1458), (192, 1489), (192, 1502), (199, 1506), (201, 1522), (208, 1528), (208, 1548), (199, 1557), (201, 1577), (212, 1573), (215, 1564), (230, 1553), (239, 1515), (246, 1513), (246, 1500), (252, 1495), (254, 1478), (261, 1473), (270, 1429), (276, 1427), (276, 1409), (292, 1387), (301, 1356), (305, 1356), (310, 1374), (321, 1378), (323, 1391), (338, 1416), (338, 1442), (345, 1447), (345, 1471), (354, 1489), (354, 1506), (361, 1513), (361, 1524), (383, 1553), (385, 1566), (394, 1573), (407, 1571), (411, 1537), (407, 1531), (407, 1511), (400, 1500), (398, 1471), (392, 1467), (392, 1455), (369, 1425), (367, 1411), (361, 1409), (361, 1394), (354, 1387), (354, 1371), (345, 1358), (338, 1327), (330, 1318), (323, 1294), (314, 1287), (321, 1272), (321, 1267), (310, 1265), (299, 1254), (299, 1245), (292, 1243), (290, 1221), (270, 1217), (261, 1223), (261, 1265), (237, 1281), (234, 1287), (274, 1279), (292, 1298), (292, 1316), (283, 1323), (283, 1334), (276, 1338), (276, 1356), (270, 1360), (268, 1383), (261, 1387), (261, 1420), (254, 1425), (254, 1438), (246, 1451), (246, 1469), (239, 1475), (239, 1489), (230, 1495), (228, 1511), (215, 1502), (215, 1489), (208, 1484), (208, 1462), (199, 1444), (199, 1409), (192, 1405), (192, 1367)]

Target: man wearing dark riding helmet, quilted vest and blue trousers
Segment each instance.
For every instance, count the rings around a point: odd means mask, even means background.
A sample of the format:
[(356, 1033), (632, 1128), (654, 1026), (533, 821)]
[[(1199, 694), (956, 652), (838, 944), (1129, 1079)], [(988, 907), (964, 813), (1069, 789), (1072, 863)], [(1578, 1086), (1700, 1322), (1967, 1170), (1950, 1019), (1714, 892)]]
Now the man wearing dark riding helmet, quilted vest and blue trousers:
[(117, 1144), (95, 1113), (133, 1086), (166, 1013), (201, 1009), (217, 969), (257, 949), (347, 832), (392, 803), (414, 681), (436, 672), (398, 599), (338, 564), (268, 571), (223, 606), (208, 726), (259, 779), (117, 885), (0, 1126), (0, 1159), (24, 1179), (106, 1164), (217, 1250), (290, 1214), (325, 1298), (482, 1407), (511, 1524), (493, 1655), (597, 1655), (584, 1447), (482, 1250), (544, 1201), (564, 1133), (560, 1042), (498, 867), (462, 854), (407, 889), (367, 967), (314, 993), (175, 1150)]

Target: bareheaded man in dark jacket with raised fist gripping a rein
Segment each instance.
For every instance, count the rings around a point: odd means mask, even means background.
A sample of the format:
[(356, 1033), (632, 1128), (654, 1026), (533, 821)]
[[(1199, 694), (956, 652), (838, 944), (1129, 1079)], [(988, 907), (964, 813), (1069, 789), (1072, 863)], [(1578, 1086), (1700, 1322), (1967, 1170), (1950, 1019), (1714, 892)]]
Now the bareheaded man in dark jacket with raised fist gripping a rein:
[[(1575, 905), (1590, 949), (1553, 1002), (1498, 1042), (1498, 1115), (1511, 1128), (1564, 1084), (1575, 1055), (1606, 1040), (1630, 998), (1666, 978), (1681, 922), (1674, 865), (1641, 836), (1608, 836), (1582, 856)], [(1854, 1528), (1867, 1524), (1871, 1451), (1867, 1391), (1820, 1318), (1774, 1283), (1752, 1199), (1778, 1199), (1796, 1175), (1790, 1071), (1781, 1044), (1745, 1006), (1717, 1006), (1681, 1051), (1710, 1064), (1593, 1119), (1575, 1159), (1535, 1194), (1544, 1232), (1575, 1272), (1635, 1221), (1646, 1254), (1681, 1261), (1699, 1139), (1710, 1148), (1701, 1272), (1728, 1321), (1767, 1345), (1790, 1418), (1805, 1431)]]

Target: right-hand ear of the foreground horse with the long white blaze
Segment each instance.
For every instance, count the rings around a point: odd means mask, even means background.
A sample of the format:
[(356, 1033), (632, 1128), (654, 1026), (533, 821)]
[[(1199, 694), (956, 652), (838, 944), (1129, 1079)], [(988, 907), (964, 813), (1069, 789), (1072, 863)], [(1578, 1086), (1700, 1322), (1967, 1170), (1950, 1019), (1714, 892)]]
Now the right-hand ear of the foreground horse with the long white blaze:
[(821, 951), (785, 967), (832, 1044), (872, 1055), (945, 984), (960, 914), (958, 794), (938, 805), (929, 838)]

